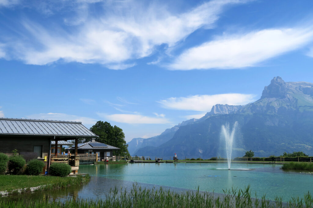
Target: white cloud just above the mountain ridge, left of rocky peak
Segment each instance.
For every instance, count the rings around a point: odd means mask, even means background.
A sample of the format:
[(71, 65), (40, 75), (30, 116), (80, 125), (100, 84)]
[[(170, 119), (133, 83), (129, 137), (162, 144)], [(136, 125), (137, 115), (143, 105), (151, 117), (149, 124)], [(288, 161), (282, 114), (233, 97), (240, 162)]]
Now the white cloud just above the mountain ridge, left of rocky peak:
[(254, 95), (252, 94), (215, 94), (215, 95), (193, 95), (189, 97), (168, 98), (160, 100), (158, 103), (163, 108), (175, 110), (195, 110), (208, 112), (215, 104), (243, 105), (252, 102)]

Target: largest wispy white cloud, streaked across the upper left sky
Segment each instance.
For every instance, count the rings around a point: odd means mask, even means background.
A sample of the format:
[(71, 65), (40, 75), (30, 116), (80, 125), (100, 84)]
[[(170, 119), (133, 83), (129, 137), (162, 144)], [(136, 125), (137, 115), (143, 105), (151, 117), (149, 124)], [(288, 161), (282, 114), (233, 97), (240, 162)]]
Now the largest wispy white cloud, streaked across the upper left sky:
[(161, 3), (106, 1), (99, 7), (102, 14), (93, 17), (90, 13), (84, 19), (83, 12), (84, 21), (76, 26), (41, 26), (25, 20), (25, 31), (20, 32), (23, 38), (10, 43), (10, 54), (34, 65), (63, 60), (125, 69), (133, 64), (124, 61), (149, 56), (155, 46), (175, 46), (200, 27), (212, 28), (225, 5), (242, 2), (213, 0), (176, 14)]

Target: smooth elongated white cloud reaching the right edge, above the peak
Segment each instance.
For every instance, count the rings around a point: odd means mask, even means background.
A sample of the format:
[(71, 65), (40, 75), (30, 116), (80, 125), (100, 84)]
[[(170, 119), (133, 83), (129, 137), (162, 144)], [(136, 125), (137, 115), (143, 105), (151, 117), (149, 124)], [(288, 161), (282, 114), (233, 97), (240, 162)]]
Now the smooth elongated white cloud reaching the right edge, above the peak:
[(184, 51), (170, 68), (228, 69), (255, 66), (261, 61), (300, 48), (312, 41), (312, 27), (268, 29), (244, 35), (224, 35)]

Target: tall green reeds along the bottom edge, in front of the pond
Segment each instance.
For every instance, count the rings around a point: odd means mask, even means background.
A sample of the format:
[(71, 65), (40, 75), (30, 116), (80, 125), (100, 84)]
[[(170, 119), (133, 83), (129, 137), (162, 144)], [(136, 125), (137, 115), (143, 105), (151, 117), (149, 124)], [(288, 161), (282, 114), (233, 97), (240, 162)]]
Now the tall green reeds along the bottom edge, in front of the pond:
[[(123, 189), (111, 190), (105, 199), (76, 199), (64, 202), (31, 201), (25, 205), (23, 201), (1, 201), (0, 207), (312, 207), (313, 198), (310, 193), (291, 199), (287, 203), (282, 202), (282, 197), (276, 197), (274, 201), (266, 200), (265, 195), (260, 199), (251, 194), (250, 187), (244, 190), (226, 190), (224, 196), (214, 196), (213, 193), (188, 191), (175, 193), (159, 189), (144, 189), (133, 185), (129, 191)], [(255, 197), (255, 198), (253, 198)]]

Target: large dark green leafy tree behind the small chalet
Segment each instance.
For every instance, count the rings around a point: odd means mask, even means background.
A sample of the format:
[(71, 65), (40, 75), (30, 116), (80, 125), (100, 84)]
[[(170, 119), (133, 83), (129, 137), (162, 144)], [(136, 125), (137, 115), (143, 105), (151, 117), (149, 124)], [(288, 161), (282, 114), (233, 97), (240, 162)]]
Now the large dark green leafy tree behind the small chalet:
[(130, 155), (127, 149), (128, 144), (126, 144), (125, 141), (125, 134), (121, 128), (117, 126), (111, 126), (111, 124), (106, 121), (98, 121), (90, 128), (90, 131), (98, 136), (96, 138), (97, 142), (120, 148), (119, 150), (113, 151), (113, 154), (126, 156)]

